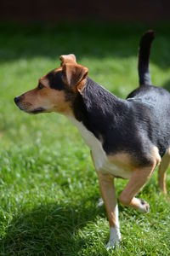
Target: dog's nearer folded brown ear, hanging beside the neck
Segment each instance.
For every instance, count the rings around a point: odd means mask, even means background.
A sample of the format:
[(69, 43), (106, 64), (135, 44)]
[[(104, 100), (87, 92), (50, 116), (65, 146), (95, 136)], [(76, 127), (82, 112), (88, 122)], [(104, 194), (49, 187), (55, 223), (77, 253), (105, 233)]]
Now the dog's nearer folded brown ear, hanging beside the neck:
[(85, 82), (88, 77), (88, 67), (82, 65), (65, 63), (63, 65), (63, 73), (66, 84), (77, 89), (80, 93), (85, 87)]

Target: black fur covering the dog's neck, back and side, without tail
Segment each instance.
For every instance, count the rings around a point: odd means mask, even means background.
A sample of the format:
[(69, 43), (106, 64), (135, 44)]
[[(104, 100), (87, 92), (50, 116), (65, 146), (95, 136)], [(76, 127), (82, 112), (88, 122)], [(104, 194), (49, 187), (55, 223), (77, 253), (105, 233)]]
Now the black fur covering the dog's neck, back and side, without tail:
[(150, 164), (153, 146), (163, 156), (170, 145), (167, 90), (144, 86), (133, 98), (122, 100), (88, 78), (72, 107), (75, 118), (102, 141), (106, 154), (127, 152), (144, 166)]

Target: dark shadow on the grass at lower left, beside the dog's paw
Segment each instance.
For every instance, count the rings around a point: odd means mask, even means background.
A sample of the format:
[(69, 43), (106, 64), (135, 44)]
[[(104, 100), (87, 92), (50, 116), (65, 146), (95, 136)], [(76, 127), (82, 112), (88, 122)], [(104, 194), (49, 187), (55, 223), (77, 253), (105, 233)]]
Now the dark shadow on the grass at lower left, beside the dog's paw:
[[(30, 212), (20, 212), (8, 225), (1, 255), (77, 255), (86, 247), (86, 237), (79, 230), (97, 216), (105, 217), (105, 207), (83, 200), (80, 205), (48, 203)], [(88, 239), (88, 237), (87, 237)]]

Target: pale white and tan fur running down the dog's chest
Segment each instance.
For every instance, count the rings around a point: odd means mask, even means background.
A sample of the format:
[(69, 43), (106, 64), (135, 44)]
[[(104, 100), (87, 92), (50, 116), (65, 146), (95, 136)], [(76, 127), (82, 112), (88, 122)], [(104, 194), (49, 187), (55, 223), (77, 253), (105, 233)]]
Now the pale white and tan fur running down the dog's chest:
[(110, 162), (105, 154), (105, 151), (102, 147), (100, 141), (94, 137), (94, 134), (91, 131), (88, 131), (82, 122), (78, 122), (77, 119), (72, 117), (69, 118), (71, 123), (77, 126), (78, 130), (81, 132), (82, 137), (87, 143), (88, 147), (92, 150), (94, 158), (94, 166), (98, 172), (107, 172), (113, 176), (129, 178), (131, 177), (132, 172), (127, 172), (127, 170), (120, 169), (114, 163)]

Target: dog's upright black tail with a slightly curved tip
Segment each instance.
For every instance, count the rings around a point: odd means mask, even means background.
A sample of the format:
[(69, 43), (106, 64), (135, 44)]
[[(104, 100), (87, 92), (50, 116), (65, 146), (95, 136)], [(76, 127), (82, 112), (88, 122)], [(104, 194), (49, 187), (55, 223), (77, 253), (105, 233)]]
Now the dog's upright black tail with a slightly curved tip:
[(139, 85), (151, 84), (150, 79), (150, 46), (155, 38), (155, 32), (145, 32), (139, 43)]

